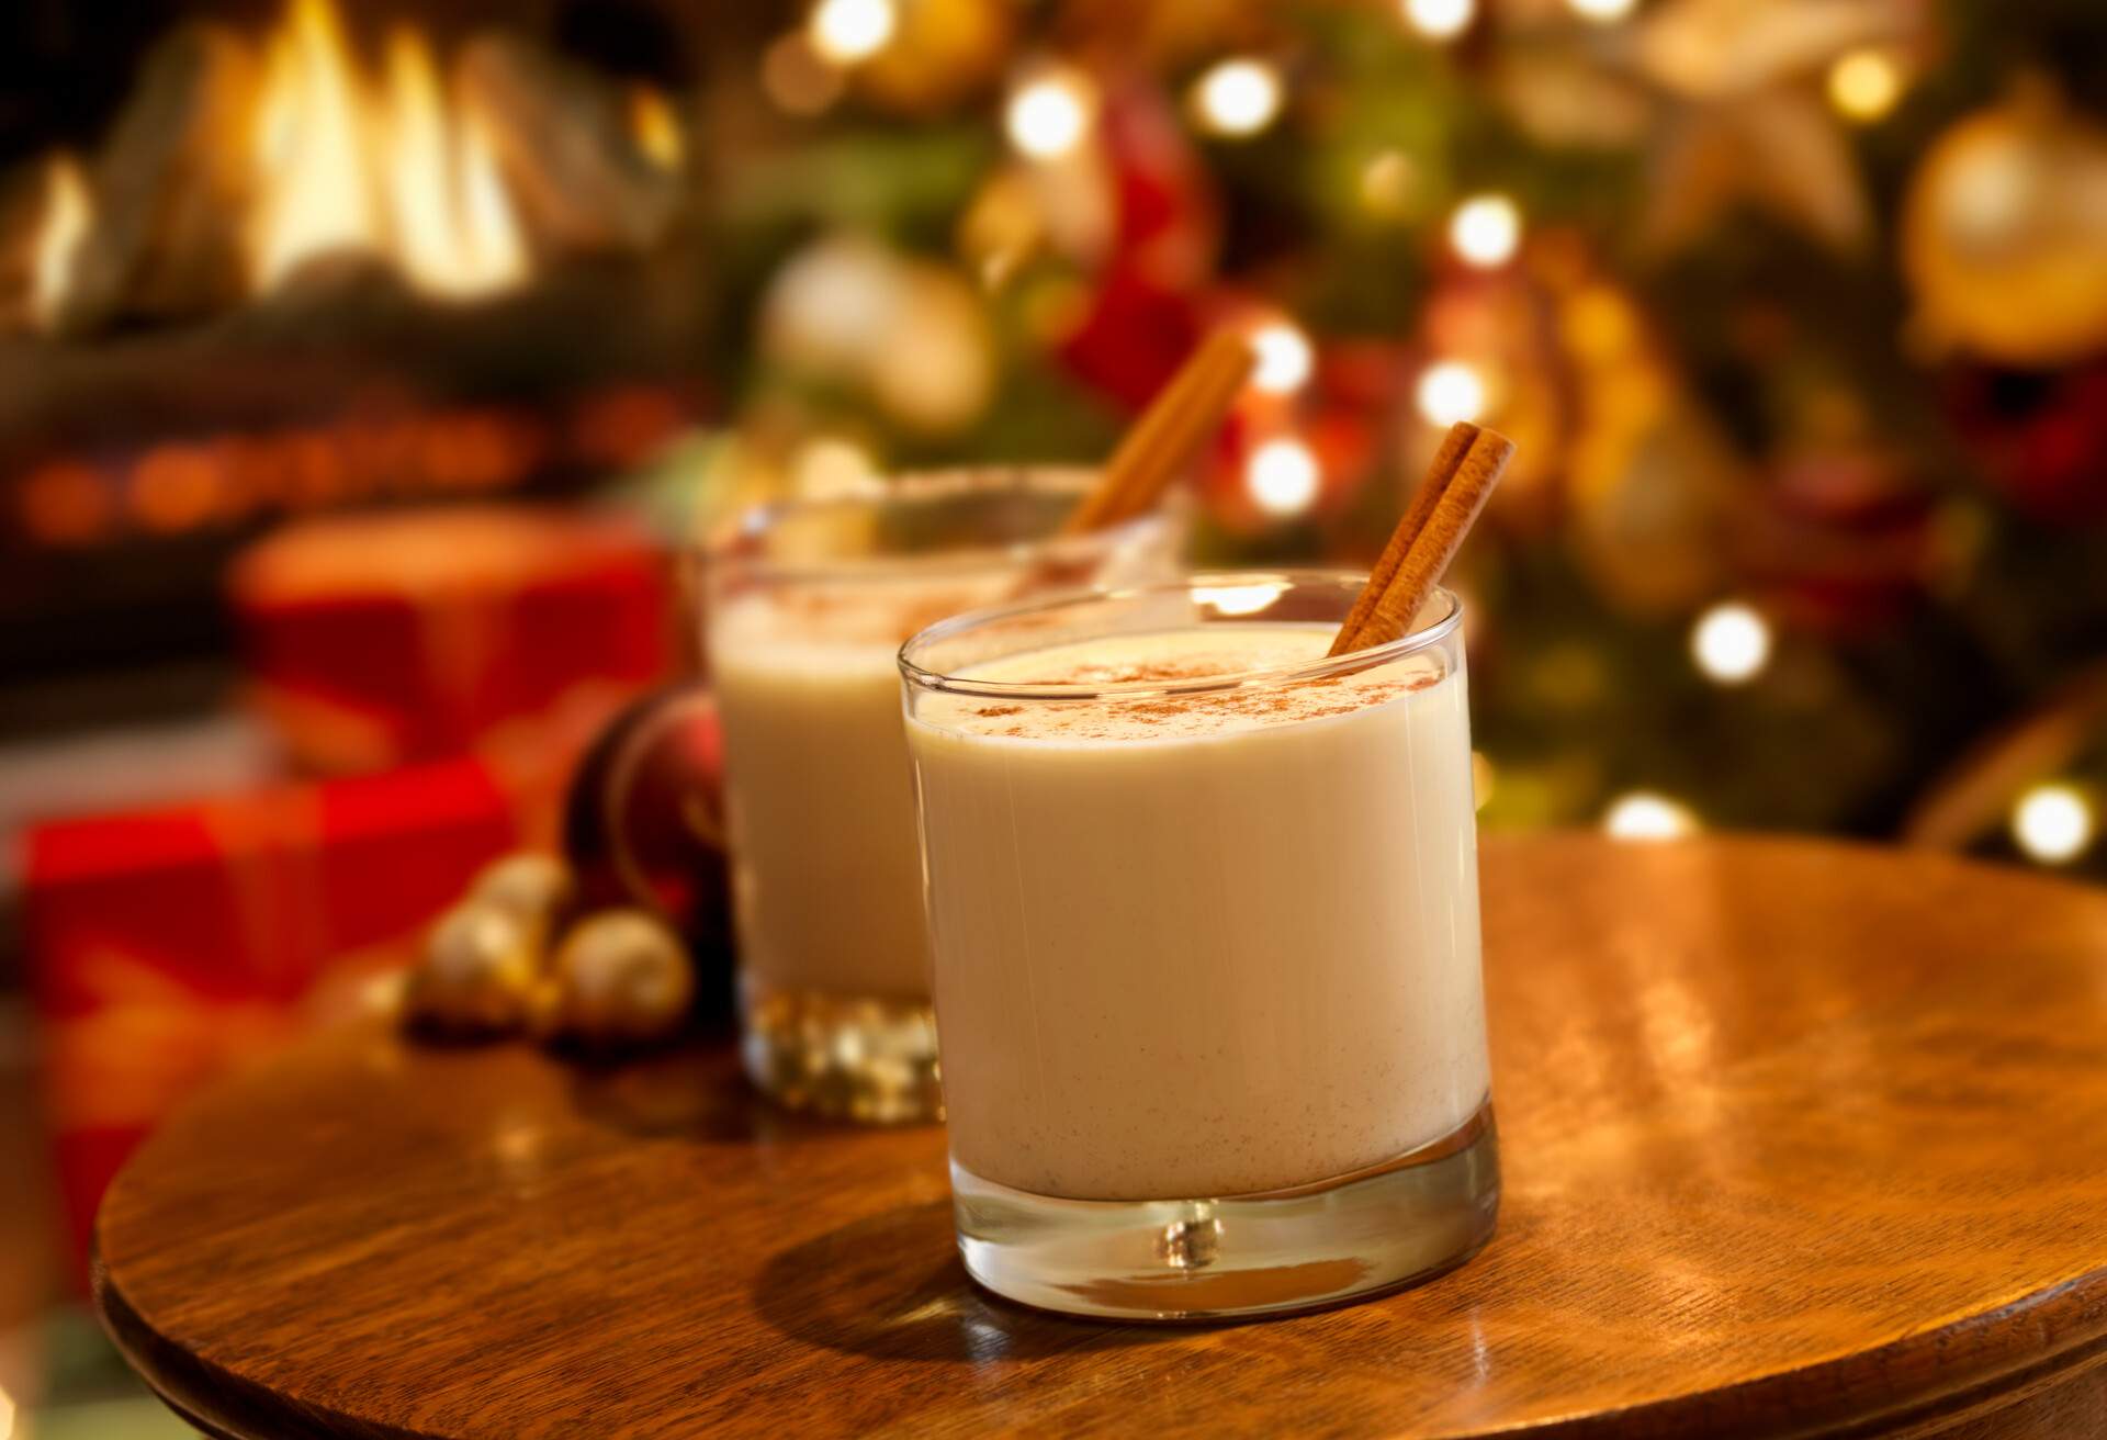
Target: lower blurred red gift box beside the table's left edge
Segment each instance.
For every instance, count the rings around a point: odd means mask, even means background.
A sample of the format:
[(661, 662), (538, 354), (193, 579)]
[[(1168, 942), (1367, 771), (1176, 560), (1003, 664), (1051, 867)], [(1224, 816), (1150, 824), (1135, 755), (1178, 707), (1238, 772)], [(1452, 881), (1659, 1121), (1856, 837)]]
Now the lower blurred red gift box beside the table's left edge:
[(76, 1242), (156, 1120), (356, 1010), (546, 799), (451, 761), (34, 829), (27, 934)]

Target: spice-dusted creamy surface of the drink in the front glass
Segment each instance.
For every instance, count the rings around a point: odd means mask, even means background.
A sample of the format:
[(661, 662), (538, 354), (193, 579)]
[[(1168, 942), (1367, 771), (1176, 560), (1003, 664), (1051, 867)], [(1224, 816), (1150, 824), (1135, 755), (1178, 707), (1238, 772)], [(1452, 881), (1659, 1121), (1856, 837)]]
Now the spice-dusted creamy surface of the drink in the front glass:
[(1003, 740), (1186, 740), (1351, 715), (1426, 689), (1443, 675), (1439, 656), (1422, 651), (1342, 675), (1176, 689), (1235, 675), (1306, 668), (1323, 660), (1334, 635), (1334, 626), (1323, 624), (1254, 622), (1051, 645), (965, 668), (959, 679), (1045, 687), (1161, 685), (1169, 694), (1081, 700), (944, 694), (929, 698), (919, 719), (954, 734)]

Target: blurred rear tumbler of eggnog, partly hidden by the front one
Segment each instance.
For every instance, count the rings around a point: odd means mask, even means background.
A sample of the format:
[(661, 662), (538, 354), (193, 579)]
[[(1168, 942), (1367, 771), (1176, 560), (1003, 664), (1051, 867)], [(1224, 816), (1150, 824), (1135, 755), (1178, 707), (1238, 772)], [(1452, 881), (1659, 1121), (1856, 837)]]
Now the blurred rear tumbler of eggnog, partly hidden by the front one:
[(1045, 588), (1174, 573), (1178, 508), (1056, 533), (1091, 470), (978, 468), (746, 514), (704, 554), (746, 1071), (775, 1098), (942, 1113), (900, 643)]

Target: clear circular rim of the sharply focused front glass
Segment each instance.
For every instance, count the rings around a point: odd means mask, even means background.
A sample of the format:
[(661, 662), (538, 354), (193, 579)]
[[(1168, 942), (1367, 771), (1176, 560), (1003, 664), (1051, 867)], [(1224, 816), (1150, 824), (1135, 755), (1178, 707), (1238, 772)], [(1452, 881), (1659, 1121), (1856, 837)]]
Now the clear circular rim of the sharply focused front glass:
[[(1384, 641), (1382, 645), (1370, 645), (1365, 649), (1348, 649), (1344, 656), (1321, 656), (1317, 660), (1304, 660), (1289, 666), (1233, 670), (1228, 675), (1207, 675), (1190, 681), (1115, 681), (1100, 685), (982, 681), (929, 670), (908, 654), (914, 649), (927, 649), (929, 645), (938, 645), (942, 641), (959, 639), (980, 626), (1020, 620), (1024, 616), (1045, 614), (1070, 605), (1131, 601), (1148, 595), (1190, 595), (1195, 590), (1241, 590), (1260, 586), (1279, 586), (1281, 595), (1298, 586), (1338, 588), (1346, 595), (1351, 605), (1351, 599), (1361, 592), (1365, 582), (1367, 576), (1353, 569), (1216, 569), (1197, 571), (1180, 580), (1159, 584), (1123, 586), (1117, 590), (1066, 590), (1062, 595), (1049, 595), (1022, 605), (969, 609), (965, 614), (938, 620), (936, 624), (910, 635), (906, 643), (900, 645), (900, 677), (914, 689), (950, 696), (978, 696), (984, 700), (1148, 700), (1155, 696), (1199, 696), (1222, 689), (1243, 689), (1249, 685), (1292, 685), (1306, 679), (1325, 679), (1332, 675), (1365, 670), (1378, 664), (1391, 664), (1393, 660), (1403, 660), (1405, 656), (1418, 654), (1431, 645), (1439, 645), (1462, 624), (1462, 597), (1448, 586), (1435, 586), (1435, 592), (1429, 599), (1441, 601), (1441, 614), (1433, 622), (1418, 626), (1395, 641)], [(1340, 620), (1344, 620), (1344, 614)], [(1237, 618), (1233, 616), (1228, 622), (1235, 624)]]

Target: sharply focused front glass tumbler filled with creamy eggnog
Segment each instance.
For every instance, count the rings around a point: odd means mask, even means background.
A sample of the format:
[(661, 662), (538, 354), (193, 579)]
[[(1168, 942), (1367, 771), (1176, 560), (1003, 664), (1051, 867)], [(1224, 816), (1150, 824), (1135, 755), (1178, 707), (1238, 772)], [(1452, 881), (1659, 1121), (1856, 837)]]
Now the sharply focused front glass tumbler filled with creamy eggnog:
[(1498, 1160), (1460, 603), (1195, 576), (900, 651), (967, 1269), (1045, 1309), (1308, 1309), (1469, 1259)]

